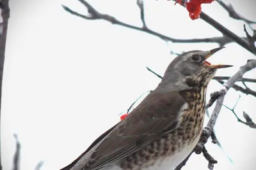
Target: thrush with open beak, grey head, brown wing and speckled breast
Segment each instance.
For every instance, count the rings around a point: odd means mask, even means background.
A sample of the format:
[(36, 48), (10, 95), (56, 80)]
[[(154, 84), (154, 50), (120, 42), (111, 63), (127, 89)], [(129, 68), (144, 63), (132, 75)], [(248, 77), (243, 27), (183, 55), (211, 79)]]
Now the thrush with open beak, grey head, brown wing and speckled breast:
[(143, 101), (61, 170), (172, 170), (200, 139), (205, 94), (218, 69), (206, 61), (224, 47), (175, 57)]

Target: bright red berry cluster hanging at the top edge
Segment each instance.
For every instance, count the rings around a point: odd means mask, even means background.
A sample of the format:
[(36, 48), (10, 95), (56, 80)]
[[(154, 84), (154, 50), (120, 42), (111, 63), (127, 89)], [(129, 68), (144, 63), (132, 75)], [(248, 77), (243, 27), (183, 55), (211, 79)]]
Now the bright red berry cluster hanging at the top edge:
[[(195, 20), (200, 16), (201, 4), (210, 4), (212, 3), (212, 1), (214, 0), (190, 0), (190, 1), (185, 1), (184, 4), (187, 10), (189, 11), (189, 17), (192, 20)], [(182, 0), (177, 0), (176, 3), (179, 3), (180, 5), (182, 5)]]

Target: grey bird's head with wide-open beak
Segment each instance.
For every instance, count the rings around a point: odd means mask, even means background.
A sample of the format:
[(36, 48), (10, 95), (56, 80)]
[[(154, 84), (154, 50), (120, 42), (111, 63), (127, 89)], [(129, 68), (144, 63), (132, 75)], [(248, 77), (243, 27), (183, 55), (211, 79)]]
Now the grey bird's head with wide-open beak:
[(178, 89), (206, 87), (217, 69), (231, 67), (230, 65), (221, 64), (211, 65), (206, 61), (212, 54), (221, 49), (214, 48), (209, 51), (194, 50), (182, 53), (170, 63), (161, 83), (166, 85), (166, 83), (171, 82), (172, 84), (169, 85)]

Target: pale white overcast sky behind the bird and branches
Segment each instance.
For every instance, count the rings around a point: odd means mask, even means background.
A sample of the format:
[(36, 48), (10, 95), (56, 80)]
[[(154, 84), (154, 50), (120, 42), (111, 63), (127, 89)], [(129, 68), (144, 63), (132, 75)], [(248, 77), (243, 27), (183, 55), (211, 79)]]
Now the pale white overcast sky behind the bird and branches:
[[(227, 2), (232, 2), (244, 17), (256, 20), (253, 0)], [(91, 0), (90, 3), (102, 13), (141, 25), (135, 0)], [(116, 124), (118, 114), (138, 96), (157, 86), (159, 78), (149, 73), (146, 66), (163, 75), (175, 57), (170, 55), (170, 50), (210, 50), (217, 46), (166, 44), (157, 37), (102, 20), (74, 17), (61, 4), (86, 13), (86, 8), (76, 0), (10, 1), (1, 110), (3, 170), (12, 169), (13, 133), (19, 136), (22, 145), (21, 170), (34, 169), (40, 160), (45, 161), (42, 170), (67, 166), (95, 138)], [(191, 20), (184, 8), (173, 4), (173, 1), (147, 0), (148, 27), (173, 38), (221, 36), (203, 20)], [(229, 18), (218, 3), (204, 5), (202, 9), (244, 36), (243, 22)], [(217, 75), (230, 76), (247, 59), (255, 59), (236, 44), (226, 46), (209, 61), (234, 67)], [(255, 73), (253, 70), (246, 77), (256, 78)], [(256, 89), (255, 84), (248, 86)], [(208, 97), (220, 87), (211, 81)], [(238, 97), (239, 93), (230, 90), (225, 104), (232, 107)], [(246, 111), (256, 121), (255, 103), (254, 97), (242, 95), (237, 114), (242, 118), (242, 111)], [(215, 130), (225, 152), (234, 161), (230, 164), (225, 153), (209, 142), (207, 150), (218, 160), (215, 170), (255, 169), (254, 129), (238, 123), (232, 112), (223, 108)], [(202, 155), (193, 155), (186, 169), (207, 169), (207, 160)]]

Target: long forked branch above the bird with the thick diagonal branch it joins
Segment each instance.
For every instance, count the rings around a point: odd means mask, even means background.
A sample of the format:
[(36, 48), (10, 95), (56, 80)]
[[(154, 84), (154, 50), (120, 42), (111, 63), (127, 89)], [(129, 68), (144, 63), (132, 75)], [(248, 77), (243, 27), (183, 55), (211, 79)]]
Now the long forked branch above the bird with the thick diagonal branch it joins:
[[(256, 47), (255, 45), (252, 46), (252, 43), (249, 43), (245, 38), (241, 38), (234, 34), (234, 32), (228, 30), (226, 27), (218, 23), (213, 18), (209, 17), (209, 15), (205, 14), (204, 12), (201, 12), (200, 18), (207, 22), (208, 24), (212, 25), (212, 27), (216, 28), (218, 31), (220, 31), (224, 36), (221, 37), (213, 37), (213, 38), (202, 38), (202, 39), (175, 39), (168, 36), (165, 36), (163, 34), (160, 34), (159, 32), (152, 31), (151, 29), (148, 29), (148, 27), (145, 24), (145, 18), (144, 18), (144, 8), (142, 0), (138, 0), (137, 4), (141, 11), (141, 21), (143, 22), (143, 27), (136, 27), (134, 25), (126, 24), (124, 22), (121, 22), (120, 20), (117, 20), (115, 17), (107, 14), (102, 14), (99, 11), (95, 10), (87, 1), (84, 0), (78, 0), (80, 3), (84, 4), (84, 6), (87, 8), (89, 16), (82, 15), (80, 13), (77, 13), (76, 11), (71, 10), (67, 6), (63, 6), (64, 10), (68, 11), (69, 13), (76, 15), (77, 17), (81, 17), (87, 20), (96, 20), (96, 19), (102, 19), (106, 20), (108, 22), (111, 22), (112, 24), (122, 25), (124, 27), (128, 27), (130, 29), (135, 29), (142, 32), (147, 32), (148, 34), (152, 34), (154, 36), (157, 36), (161, 39), (164, 39), (165, 41), (172, 41), (173, 43), (218, 43), (220, 46), (224, 46), (227, 43), (236, 42), (249, 52), (256, 55)], [(173, 0), (175, 1), (175, 0)], [(256, 34), (256, 33), (255, 33)], [(253, 42), (254, 43), (254, 42)]]

